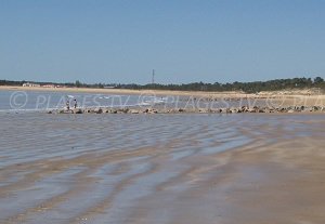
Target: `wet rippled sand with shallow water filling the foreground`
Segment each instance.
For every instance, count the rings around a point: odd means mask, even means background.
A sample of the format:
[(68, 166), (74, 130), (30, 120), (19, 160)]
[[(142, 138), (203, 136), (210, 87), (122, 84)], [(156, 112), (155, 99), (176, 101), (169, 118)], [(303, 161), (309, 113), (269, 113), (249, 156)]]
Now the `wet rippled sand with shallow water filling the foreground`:
[(0, 122), (0, 223), (325, 222), (324, 115)]

